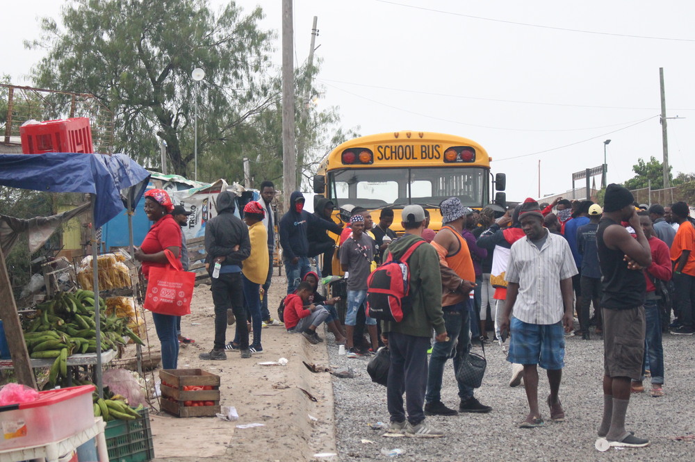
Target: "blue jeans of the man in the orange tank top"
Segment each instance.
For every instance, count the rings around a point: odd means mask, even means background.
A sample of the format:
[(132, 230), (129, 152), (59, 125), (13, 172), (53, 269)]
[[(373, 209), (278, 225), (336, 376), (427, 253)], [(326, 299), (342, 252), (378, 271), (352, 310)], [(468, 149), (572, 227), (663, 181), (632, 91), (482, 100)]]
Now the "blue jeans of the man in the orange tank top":
[[(459, 370), (461, 358), (471, 349), (470, 325), (471, 317), (468, 315), (468, 307), (471, 305), (470, 299), (465, 299), (452, 306), (445, 306), (444, 327), (449, 336), (448, 342), (435, 342), (430, 356), (430, 368), (427, 373), (427, 393), (425, 400), (430, 402), (441, 401), (441, 381), (444, 377), (444, 365), (446, 360), (451, 357), (452, 349), (457, 344), (456, 354), (454, 355), (454, 375)], [(458, 343), (456, 340), (459, 340)], [(457, 381), (459, 386), (459, 398), (461, 402), (473, 397), (473, 388)]]

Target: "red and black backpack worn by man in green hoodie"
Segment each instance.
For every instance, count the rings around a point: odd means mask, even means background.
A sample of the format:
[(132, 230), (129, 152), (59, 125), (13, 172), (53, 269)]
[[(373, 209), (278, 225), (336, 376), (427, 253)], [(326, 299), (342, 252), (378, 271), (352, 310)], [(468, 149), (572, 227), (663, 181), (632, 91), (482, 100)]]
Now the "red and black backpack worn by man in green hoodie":
[(398, 259), (386, 261), (367, 278), (367, 315), (377, 320), (401, 322), (412, 308), (408, 259), (425, 244), (418, 240)]

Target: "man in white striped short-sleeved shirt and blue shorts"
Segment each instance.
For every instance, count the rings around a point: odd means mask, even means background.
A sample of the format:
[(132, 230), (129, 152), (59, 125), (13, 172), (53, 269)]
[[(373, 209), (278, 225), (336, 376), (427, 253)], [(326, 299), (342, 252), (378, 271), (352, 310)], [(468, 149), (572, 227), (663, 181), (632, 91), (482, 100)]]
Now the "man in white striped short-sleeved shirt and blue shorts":
[[(572, 277), (578, 271), (567, 241), (543, 228), (536, 201), (524, 201), (519, 222), (526, 238), (514, 242), (509, 255), (507, 303), (500, 330), (512, 332), (507, 361), (524, 368), (530, 412), (520, 427), (533, 428), (543, 425), (538, 406), (538, 365), (548, 374), (550, 419), (564, 421), (558, 391), (564, 367), (564, 332), (573, 328)], [(514, 317), (510, 319), (512, 310)]]

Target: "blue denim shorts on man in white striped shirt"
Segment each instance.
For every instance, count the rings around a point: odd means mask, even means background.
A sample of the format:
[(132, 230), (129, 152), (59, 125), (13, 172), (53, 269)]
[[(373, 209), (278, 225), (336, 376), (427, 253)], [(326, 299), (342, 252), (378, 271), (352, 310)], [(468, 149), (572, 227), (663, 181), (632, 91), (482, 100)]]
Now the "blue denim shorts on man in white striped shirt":
[(512, 317), (509, 330), (512, 338), (507, 361), (516, 364), (537, 364), (545, 370), (564, 368), (562, 322), (528, 324)]

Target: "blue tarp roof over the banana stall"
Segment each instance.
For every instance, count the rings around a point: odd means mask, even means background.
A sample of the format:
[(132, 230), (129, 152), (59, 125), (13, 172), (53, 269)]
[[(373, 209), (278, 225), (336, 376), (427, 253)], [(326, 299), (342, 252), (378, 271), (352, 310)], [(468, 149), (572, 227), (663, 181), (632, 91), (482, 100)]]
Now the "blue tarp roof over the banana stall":
[(147, 188), (149, 172), (125, 154), (0, 154), (0, 185), (46, 192), (95, 195), (97, 228), (133, 208)]

